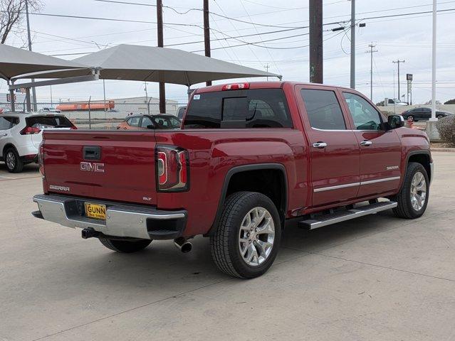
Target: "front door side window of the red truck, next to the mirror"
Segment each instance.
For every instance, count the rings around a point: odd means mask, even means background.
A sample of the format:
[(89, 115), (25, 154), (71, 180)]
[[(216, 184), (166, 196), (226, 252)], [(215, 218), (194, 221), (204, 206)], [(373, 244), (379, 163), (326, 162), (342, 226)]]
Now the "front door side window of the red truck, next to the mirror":
[(381, 130), (382, 120), (379, 112), (366, 99), (358, 94), (343, 92), (347, 107), (357, 130)]

